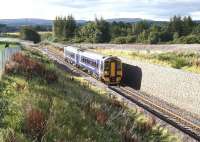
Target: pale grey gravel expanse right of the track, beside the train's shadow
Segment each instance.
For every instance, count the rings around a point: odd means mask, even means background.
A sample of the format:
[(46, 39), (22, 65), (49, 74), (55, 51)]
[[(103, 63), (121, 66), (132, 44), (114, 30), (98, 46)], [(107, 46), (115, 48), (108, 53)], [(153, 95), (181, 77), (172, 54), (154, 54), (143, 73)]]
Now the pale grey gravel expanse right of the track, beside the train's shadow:
[(141, 91), (200, 115), (200, 75), (122, 58), (142, 70)]

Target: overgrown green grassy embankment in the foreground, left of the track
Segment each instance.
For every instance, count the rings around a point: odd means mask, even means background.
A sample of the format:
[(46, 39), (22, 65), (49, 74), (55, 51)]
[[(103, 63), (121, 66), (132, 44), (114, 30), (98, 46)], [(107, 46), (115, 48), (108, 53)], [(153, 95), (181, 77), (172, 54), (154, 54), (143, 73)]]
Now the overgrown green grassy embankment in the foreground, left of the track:
[[(153, 119), (119, 104), (82, 78), (72, 77), (41, 54), (24, 52), (56, 72), (59, 78), (49, 84), (43, 76), (28, 78), (30, 72), (3, 75), (0, 141), (120, 142), (124, 137), (142, 142), (180, 141), (167, 129), (154, 124)], [(31, 117), (30, 110), (35, 110), (31, 111)], [(39, 122), (44, 122), (42, 132), (38, 129)]]

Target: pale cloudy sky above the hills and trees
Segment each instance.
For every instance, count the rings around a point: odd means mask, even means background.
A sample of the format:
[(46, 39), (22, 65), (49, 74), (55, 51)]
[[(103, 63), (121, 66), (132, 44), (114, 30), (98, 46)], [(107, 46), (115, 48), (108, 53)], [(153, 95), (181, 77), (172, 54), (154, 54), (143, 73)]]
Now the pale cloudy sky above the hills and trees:
[(200, 20), (200, 0), (1, 0), (0, 19), (54, 19), (68, 14), (77, 20), (169, 20), (173, 15), (190, 15)]

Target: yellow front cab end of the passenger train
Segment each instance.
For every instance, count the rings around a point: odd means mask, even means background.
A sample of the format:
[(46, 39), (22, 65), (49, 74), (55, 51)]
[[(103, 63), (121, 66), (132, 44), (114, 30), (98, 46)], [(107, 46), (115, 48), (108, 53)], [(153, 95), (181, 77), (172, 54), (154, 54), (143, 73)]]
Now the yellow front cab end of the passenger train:
[(122, 63), (117, 57), (104, 61), (103, 80), (109, 85), (117, 85), (122, 79)]

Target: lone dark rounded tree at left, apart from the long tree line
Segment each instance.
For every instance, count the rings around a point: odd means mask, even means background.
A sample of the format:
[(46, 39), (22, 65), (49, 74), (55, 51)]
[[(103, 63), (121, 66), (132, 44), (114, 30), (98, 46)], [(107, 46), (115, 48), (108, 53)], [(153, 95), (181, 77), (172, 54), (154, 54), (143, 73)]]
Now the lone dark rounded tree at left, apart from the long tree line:
[(38, 43), (41, 41), (40, 35), (31, 27), (22, 27), (20, 30), (20, 37), (23, 40), (30, 40), (34, 43)]

